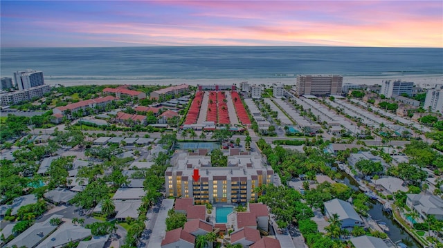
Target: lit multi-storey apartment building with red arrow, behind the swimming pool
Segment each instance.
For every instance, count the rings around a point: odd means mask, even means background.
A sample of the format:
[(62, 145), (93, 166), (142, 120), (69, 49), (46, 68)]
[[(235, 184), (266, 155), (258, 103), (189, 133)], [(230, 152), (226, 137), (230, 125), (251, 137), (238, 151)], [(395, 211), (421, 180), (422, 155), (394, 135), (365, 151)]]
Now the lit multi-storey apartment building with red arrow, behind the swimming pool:
[[(273, 183), (273, 170), (264, 166), (259, 153), (230, 150), (227, 166), (213, 167), (210, 156), (180, 153), (174, 166), (165, 171), (167, 197), (194, 198), (195, 203), (226, 202), (246, 204), (256, 200), (255, 187)], [(192, 175), (198, 169), (200, 178)]]

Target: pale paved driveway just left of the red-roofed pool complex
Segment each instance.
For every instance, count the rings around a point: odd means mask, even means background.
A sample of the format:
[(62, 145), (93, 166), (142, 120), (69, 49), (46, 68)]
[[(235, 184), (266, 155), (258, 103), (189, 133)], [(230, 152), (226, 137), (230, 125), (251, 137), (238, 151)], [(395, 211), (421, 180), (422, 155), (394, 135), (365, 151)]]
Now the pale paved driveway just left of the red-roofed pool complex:
[(150, 240), (147, 242), (147, 247), (161, 247), (161, 241), (165, 238), (166, 234), (166, 218), (168, 217), (168, 211), (174, 207), (174, 199), (164, 199), (161, 202), (159, 215), (157, 216), (154, 229)]

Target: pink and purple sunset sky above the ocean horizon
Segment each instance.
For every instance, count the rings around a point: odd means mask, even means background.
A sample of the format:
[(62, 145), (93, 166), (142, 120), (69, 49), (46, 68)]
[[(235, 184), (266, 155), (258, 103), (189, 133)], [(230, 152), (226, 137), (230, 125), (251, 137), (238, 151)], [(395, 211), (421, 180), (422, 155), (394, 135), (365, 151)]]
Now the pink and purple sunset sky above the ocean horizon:
[(443, 1), (0, 1), (1, 47), (443, 47)]

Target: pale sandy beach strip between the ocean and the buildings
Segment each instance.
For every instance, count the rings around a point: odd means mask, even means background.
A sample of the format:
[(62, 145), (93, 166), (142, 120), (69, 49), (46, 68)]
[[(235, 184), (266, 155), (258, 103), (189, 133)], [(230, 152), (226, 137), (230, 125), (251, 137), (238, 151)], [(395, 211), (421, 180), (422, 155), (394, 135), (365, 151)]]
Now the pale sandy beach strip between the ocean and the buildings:
[[(435, 84), (443, 84), (443, 75), (386, 75), (386, 76), (343, 76), (343, 85), (345, 84), (381, 84), (383, 80), (401, 80), (414, 82), (417, 86), (423, 88), (433, 88)], [(189, 84), (191, 86), (208, 84), (239, 84), (249, 82), (251, 84), (282, 83), (287, 85), (296, 85), (296, 77), (284, 78), (223, 78), (223, 79), (149, 79), (147, 77), (106, 77), (106, 76), (66, 76), (66, 77), (45, 77), (45, 83), (48, 85), (61, 84), (63, 86), (82, 86), (82, 85), (108, 85), (108, 84), (133, 84), (133, 85), (177, 85)]]

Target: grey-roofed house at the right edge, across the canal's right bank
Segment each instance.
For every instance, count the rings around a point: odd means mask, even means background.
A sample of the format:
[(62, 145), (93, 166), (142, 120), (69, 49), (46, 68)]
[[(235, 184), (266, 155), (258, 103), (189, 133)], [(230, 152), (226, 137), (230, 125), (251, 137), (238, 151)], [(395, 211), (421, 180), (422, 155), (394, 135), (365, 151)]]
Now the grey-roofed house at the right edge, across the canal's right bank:
[(443, 220), (443, 200), (435, 195), (423, 195), (416, 193), (406, 194), (406, 206), (416, 211), (420, 218), (425, 220), (433, 215), (437, 220)]

